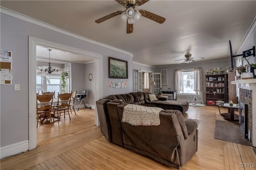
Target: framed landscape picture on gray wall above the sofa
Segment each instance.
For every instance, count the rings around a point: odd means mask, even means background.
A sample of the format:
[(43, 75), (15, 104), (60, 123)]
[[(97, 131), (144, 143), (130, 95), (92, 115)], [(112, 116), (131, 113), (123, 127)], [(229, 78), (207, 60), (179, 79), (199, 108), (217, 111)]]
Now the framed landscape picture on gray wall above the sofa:
[(108, 78), (128, 78), (127, 61), (108, 57)]

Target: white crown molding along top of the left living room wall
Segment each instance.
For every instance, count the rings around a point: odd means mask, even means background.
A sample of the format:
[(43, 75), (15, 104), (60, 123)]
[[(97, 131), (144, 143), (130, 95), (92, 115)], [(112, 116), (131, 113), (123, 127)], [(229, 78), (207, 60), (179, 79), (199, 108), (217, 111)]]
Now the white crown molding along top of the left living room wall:
[(12, 17), (15, 17), (15, 18), (18, 18), (20, 20), (24, 20), (24, 21), (27, 21), (27, 22), (30, 22), (30, 23), (33, 23), (33, 24), (36, 24), (36, 25), (39, 25), (41, 27), (45, 27), (45, 28), (48, 28), (48, 29), (51, 29), (53, 31), (56, 31), (56, 32), (59, 32), (59, 33), (63, 33), (65, 35), (69, 35), (71, 37), (75, 37), (77, 39), (81, 39), (83, 41), (86, 41), (86, 42), (89, 42), (89, 43), (92, 43), (92, 44), (95, 44), (95, 45), (100, 45), (102, 47), (106, 47), (108, 49), (112, 49), (112, 50), (115, 50), (115, 51), (119, 51), (121, 53), (125, 53), (125, 54), (128, 54), (130, 55), (131, 57), (133, 57), (133, 54), (128, 52), (128, 51), (124, 51), (122, 49), (118, 49), (116, 47), (112, 47), (110, 45), (107, 45), (107, 44), (104, 44), (104, 43), (100, 43), (98, 41), (95, 41), (95, 40), (92, 40), (92, 39), (89, 39), (89, 38), (86, 38), (86, 37), (83, 37), (81, 35), (78, 35), (78, 34), (75, 34), (75, 33), (72, 33), (70, 31), (67, 31), (65, 29), (61, 29), (61, 28), (58, 28), (56, 26), (53, 26), (53, 25), (50, 25), (48, 23), (45, 23), (43, 21), (40, 21), (40, 20), (36, 20), (34, 18), (31, 18), (29, 16), (25, 16), (23, 14), (20, 14), (18, 12), (15, 12), (15, 11), (12, 11), (12, 10), (9, 10), (7, 8), (4, 8), (4, 7), (0, 7), (0, 12), (2, 14), (6, 14), (6, 15), (9, 15), (9, 16), (12, 16)]

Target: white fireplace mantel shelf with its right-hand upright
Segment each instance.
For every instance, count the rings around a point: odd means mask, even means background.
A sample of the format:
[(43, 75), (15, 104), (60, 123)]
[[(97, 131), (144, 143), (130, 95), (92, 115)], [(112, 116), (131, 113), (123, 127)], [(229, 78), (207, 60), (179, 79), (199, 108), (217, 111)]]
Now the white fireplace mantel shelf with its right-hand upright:
[[(252, 146), (256, 147), (256, 78), (232, 81), (238, 88), (252, 90)], [(248, 106), (249, 107), (249, 106)]]

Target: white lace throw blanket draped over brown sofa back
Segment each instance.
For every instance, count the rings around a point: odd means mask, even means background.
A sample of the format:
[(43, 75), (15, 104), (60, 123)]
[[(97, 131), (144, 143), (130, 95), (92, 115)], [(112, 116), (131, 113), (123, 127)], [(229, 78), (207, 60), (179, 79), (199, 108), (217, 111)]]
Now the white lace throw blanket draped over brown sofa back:
[(124, 106), (122, 122), (131, 125), (160, 125), (159, 112), (163, 109), (159, 107), (146, 107), (136, 104), (128, 104)]

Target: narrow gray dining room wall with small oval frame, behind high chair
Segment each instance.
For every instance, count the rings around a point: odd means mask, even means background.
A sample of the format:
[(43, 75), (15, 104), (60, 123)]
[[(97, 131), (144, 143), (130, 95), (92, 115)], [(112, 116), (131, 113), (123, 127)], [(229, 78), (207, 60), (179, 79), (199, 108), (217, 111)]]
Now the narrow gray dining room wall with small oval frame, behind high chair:
[[(86, 99), (90, 105), (95, 105), (95, 62), (84, 64)], [(92, 81), (89, 80), (92, 74)]]

